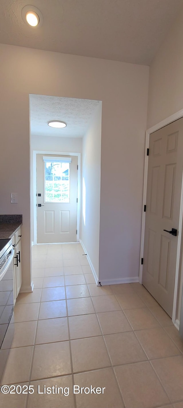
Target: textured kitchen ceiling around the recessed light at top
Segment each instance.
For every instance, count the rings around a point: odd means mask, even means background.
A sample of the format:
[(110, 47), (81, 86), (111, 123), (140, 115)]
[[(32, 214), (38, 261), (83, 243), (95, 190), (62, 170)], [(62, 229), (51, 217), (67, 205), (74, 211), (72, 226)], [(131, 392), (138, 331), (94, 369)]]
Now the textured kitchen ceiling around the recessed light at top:
[[(40, 9), (30, 27), (22, 8)], [(67, 54), (150, 64), (183, 0), (0, 0), (0, 42)]]

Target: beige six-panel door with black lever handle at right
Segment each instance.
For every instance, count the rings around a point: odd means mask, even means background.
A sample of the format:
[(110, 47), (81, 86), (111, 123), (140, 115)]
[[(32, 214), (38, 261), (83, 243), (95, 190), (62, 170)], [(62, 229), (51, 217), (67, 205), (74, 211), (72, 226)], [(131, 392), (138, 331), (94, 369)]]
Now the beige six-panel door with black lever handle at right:
[(142, 283), (170, 317), (182, 174), (183, 118), (150, 135), (148, 158)]

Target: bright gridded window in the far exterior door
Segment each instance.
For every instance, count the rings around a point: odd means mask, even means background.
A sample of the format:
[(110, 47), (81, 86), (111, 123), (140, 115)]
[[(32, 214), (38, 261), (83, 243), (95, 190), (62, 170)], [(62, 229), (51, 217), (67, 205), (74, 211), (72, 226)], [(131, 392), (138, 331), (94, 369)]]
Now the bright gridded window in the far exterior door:
[(69, 163), (45, 162), (45, 202), (70, 202)]

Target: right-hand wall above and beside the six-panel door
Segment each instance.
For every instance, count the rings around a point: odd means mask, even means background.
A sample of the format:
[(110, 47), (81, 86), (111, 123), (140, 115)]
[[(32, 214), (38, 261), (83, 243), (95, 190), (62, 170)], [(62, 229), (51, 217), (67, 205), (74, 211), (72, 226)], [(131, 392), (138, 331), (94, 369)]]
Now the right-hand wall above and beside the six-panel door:
[[(183, 10), (150, 67), (148, 124), (157, 124), (183, 109)], [(180, 318), (183, 258), (179, 276), (177, 319)]]

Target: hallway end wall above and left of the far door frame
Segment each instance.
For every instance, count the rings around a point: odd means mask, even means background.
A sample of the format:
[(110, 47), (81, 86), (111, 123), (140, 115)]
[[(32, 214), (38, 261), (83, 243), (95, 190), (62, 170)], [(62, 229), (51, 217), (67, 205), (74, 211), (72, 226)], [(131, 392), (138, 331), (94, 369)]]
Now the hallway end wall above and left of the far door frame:
[(31, 135), (31, 217), (32, 217), (32, 243), (35, 244), (36, 223), (36, 162), (33, 151), (47, 151), (60, 153), (81, 153), (82, 138), (80, 137), (54, 137)]

